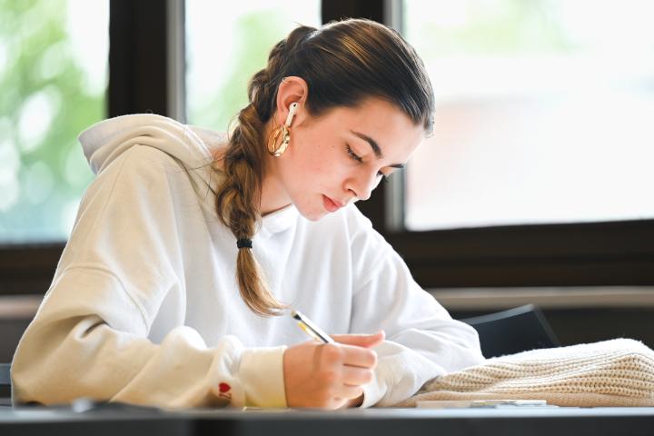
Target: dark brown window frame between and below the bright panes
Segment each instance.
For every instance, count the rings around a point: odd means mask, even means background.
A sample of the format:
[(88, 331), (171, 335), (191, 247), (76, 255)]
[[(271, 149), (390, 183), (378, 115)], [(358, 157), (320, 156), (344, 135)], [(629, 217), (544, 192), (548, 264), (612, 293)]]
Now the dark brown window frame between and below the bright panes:
[[(111, 0), (107, 116), (168, 114), (166, 10), (174, 1)], [(385, 5), (323, 1), (322, 20), (383, 23)], [(654, 284), (654, 220), (391, 231), (386, 189), (358, 205), (425, 288)], [(64, 243), (0, 245), (0, 294), (45, 292), (63, 249)]]

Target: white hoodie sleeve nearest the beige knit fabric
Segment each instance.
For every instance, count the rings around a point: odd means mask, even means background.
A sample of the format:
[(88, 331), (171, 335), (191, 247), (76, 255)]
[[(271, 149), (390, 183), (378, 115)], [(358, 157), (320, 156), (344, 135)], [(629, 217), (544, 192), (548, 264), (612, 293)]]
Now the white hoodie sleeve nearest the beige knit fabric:
[(352, 332), (386, 332), (375, 347), (375, 379), (362, 407), (392, 406), (439, 375), (483, 362), (477, 332), (450, 314), (411, 277), (406, 264), (358, 211), (352, 241)]

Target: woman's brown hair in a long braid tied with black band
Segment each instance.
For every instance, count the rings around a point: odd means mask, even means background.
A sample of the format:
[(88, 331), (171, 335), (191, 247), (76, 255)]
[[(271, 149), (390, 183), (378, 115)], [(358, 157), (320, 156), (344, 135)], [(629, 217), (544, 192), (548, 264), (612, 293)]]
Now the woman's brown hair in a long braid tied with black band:
[[(379, 97), (431, 131), (431, 83), (420, 56), (400, 34), (364, 19), (294, 29), (272, 48), (266, 67), (253, 75), (248, 85), (250, 104), (238, 114), (223, 155), (224, 178), (216, 211), (237, 240), (252, 239), (261, 220), (267, 153), (264, 126), (275, 112), (280, 82), (290, 75), (307, 83), (305, 109), (313, 116)], [(272, 295), (252, 249), (238, 251), (236, 277), (243, 301), (253, 312), (276, 315), (286, 307)]]

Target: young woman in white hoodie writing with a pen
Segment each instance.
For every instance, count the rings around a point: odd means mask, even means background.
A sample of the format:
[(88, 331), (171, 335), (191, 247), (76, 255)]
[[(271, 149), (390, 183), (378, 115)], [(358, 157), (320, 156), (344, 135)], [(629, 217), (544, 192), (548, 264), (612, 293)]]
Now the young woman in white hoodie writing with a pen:
[(228, 138), (152, 114), (80, 135), (97, 178), (15, 353), (15, 402), (385, 406), (482, 361), (352, 204), (431, 131), (411, 46), (367, 20), (299, 27), (248, 91)]

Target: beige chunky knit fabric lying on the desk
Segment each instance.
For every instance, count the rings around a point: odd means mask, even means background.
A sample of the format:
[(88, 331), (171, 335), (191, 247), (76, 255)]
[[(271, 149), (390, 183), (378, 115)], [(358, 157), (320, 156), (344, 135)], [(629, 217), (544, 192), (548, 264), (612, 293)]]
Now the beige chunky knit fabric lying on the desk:
[(421, 400), (539, 399), (578, 407), (654, 406), (654, 352), (631, 339), (520, 352), (437, 377)]

